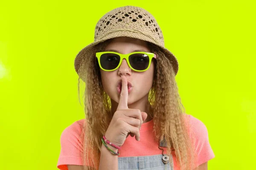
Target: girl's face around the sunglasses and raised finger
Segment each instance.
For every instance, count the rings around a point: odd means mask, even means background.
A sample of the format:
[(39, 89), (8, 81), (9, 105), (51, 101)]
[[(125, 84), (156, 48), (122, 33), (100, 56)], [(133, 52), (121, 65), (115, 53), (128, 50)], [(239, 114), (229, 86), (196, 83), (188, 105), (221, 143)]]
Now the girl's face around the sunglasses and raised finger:
[[(145, 41), (129, 38), (129, 37), (117, 37), (114, 38), (105, 48), (105, 51), (114, 51), (120, 54), (128, 54), (134, 51), (151, 52)], [(102, 85), (105, 92), (116, 103), (119, 102), (119, 82), (121, 76), (126, 76), (128, 83), (131, 82), (132, 88), (128, 85), (128, 89), (131, 88), (128, 95), (128, 105), (133, 104), (140, 99), (148, 100), (148, 92), (150, 91), (153, 79), (154, 79), (154, 59), (151, 61), (150, 68), (143, 72), (137, 72), (131, 70), (126, 60), (123, 59), (119, 68), (115, 71), (103, 71), (100, 69)], [(118, 90), (119, 89), (119, 90)]]

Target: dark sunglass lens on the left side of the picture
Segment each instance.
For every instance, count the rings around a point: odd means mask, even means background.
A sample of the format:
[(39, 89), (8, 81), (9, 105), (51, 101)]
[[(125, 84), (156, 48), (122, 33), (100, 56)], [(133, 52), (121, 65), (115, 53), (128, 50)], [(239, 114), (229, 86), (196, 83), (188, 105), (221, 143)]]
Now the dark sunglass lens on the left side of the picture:
[(120, 57), (117, 54), (106, 53), (102, 54), (100, 57), (100, 64), (105, 70), (115, 69), (120, 61)]

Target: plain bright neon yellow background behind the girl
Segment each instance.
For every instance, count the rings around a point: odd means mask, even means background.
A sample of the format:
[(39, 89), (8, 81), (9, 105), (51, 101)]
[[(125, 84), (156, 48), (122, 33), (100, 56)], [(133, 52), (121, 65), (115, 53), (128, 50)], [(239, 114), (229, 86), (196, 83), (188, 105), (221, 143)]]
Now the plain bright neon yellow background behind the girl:
[(57, 170), (61, 132), (83, 119), (76, 54), (113, 8), (154, 15), (180, 64), (186, 113), (207, 126), (209, 170), (253, 170), (255, 3), (234, 0), (50, 1), (0, 5), (0, 169)]

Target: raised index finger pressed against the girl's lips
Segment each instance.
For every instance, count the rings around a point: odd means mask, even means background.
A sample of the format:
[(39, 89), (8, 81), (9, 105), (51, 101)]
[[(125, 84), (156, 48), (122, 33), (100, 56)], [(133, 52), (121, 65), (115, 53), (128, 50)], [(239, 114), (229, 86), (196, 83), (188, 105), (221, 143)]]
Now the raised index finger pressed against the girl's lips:
[(128, 109), (128, 82), (125, 76), (122, 77), (122, 90), (120, 94), (117, 110)]

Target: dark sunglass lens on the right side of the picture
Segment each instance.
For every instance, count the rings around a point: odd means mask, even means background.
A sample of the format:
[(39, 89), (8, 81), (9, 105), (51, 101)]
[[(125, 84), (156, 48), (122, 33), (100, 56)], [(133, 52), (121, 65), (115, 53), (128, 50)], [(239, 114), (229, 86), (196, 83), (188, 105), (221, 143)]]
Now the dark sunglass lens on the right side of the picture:
[(135, 70), (145, 70), (148, 68), (149, 57), (147, 54), (131, 54), (129, 62)]

